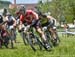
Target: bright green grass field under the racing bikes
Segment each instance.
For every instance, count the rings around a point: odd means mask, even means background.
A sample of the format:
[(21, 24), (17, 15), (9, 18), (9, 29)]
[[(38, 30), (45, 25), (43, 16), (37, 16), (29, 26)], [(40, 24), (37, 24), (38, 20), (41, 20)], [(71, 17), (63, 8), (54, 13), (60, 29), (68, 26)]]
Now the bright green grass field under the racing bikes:
[(75, 37), (65, 38), (60, 36), (59, 46), (52, 48), (52, 51), (37, 50), (34, 52), (30, 46), (23, 44), (22, 38), (18, 35), (14, 49), (0, 49), (0, 57), (75, 57)]

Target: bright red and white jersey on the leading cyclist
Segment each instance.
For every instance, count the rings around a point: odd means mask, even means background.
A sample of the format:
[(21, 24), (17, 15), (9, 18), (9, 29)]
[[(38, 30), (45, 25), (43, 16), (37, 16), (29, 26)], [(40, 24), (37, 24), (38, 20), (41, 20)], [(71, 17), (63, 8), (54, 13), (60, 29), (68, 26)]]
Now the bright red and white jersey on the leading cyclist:
[(31, 24), (33, 20), (38, 20), (38, 14), (36, 14), (32, 10), (26, 10), (26, 13), (24, 15), (20, 15), (20, 21), (26, 22), (27, 24)]

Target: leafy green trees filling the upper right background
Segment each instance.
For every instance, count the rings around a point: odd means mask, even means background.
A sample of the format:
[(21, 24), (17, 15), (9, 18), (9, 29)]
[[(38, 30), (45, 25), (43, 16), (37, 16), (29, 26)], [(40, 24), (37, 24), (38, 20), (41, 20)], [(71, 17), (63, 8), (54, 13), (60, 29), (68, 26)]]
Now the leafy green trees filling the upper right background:
[[(75, 0), (44, 0), (41, 6), (43, 12), (50, 11), (58, 21), (62, 16), (65, 17), (67, 22), (72, 22), (75, 19)], [(41, 4), (41, 3), (40, 3)]]

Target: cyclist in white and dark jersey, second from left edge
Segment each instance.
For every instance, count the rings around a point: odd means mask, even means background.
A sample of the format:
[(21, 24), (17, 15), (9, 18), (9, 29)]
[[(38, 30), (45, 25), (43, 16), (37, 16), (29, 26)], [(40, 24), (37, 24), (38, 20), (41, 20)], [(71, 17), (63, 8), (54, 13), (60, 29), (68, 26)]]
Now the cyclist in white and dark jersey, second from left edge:
[[(7, 31), (9, 32), (9, 36), (10, 36), (10, 40), (15, 41), (16, 42), (16, 19), (10, 14), (7, 13), (6, 16), (6, 27), (7, 27)], [(11, 30), (13, 29), (13, 33), (14, 33), (14, 37), (12, 36), (12, 32)]]

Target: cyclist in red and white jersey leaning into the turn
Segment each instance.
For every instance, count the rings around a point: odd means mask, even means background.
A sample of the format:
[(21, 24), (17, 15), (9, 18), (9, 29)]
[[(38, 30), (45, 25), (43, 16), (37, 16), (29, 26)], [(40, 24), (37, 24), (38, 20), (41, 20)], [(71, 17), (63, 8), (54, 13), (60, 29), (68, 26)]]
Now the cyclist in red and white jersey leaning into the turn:
[(41, 30), (38, 14), (32, 10), (26, 10), (25, 7), (20, 9), (20, 13), (20, 25), (27, 23), (28, 25), (33, 26), (43, 39), (45, 47), (48, 48), (49, 45), (47, 43), (44, 32)]

